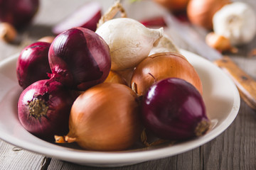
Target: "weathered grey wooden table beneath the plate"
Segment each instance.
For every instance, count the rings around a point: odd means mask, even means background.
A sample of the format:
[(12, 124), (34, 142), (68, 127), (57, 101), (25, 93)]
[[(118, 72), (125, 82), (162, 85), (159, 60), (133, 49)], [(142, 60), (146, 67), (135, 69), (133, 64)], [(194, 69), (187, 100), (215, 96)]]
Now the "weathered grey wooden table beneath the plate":
[[(255, 0), (247, 0), (254, 8)], [(113, 1), (100, 1), (104, 11)], [(33, 24), (20, 33), (22, 40), (17, 44), (0, 42), (0, 59), (21, 52), (23, 47), (46, 35), (51, 35), (51, 27), (72, 13), (85, 1), (41, 0)], [(256, 8), (255, 8), (256, 11)], [(186, 43), (179, 47), (193, 52)], [(233, 60), (254, 79), (256, 79), (256, 56), (248, 52), (256, 48), (256, 38), (248, 45), (239, 47), (232, 55)], [(41, 154), (28, 152), (0, 140), (0, 169), (102, 169), (80, 166)], [(237, 118), (221, 135), (210, 142), (183, 154), (157, 159), (149, 162), (109, 169), (256, 169), (256, 113), (241, 101)]]

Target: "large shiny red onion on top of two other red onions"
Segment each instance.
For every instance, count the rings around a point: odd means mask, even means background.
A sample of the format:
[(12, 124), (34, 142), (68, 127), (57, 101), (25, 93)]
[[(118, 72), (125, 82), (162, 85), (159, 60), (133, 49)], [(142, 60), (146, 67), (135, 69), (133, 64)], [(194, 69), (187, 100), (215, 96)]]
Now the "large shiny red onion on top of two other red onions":
[(48, 59), (51, 77), (78, 91), (102, 83), (110, 73), (107, 43), (87, 28), (71, 28), (60, 33), (50, 45)]

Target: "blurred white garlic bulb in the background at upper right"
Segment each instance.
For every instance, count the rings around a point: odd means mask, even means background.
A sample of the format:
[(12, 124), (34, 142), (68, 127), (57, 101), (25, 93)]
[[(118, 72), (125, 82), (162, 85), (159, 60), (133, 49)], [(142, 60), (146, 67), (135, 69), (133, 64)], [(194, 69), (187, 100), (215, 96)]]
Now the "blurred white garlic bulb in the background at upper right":
[(256, 33), (255, 11), (242, 2), (227, 4), (213, 16), (213, 30), (228, 38), (232, 45), (250, 42)]

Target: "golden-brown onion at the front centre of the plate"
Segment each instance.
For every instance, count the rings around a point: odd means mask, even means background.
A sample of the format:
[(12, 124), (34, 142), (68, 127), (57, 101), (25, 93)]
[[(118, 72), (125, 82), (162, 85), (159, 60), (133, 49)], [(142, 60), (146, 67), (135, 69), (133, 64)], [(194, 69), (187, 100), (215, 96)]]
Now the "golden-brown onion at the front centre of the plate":
[(70, 112), (65, 141), (90, 150), (114, 151), (131, 147), (142, 132), (137, 95), (123, 84), (103, 83), (81, 94)]

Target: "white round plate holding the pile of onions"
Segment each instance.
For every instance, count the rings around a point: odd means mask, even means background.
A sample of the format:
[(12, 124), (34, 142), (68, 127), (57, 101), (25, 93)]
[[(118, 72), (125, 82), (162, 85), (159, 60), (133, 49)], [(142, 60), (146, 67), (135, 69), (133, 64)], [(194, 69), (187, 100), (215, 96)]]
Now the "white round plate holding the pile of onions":
[(21, 88), (16, 79), (14, 55), (0, 63), (0, 138), (31, 152), (57, 159), (90, 166), (123, 166), (152, 159), (161, 159), (181, 154), (199, 147), (220, 135), (233, 122), (240, 107), (240, 96), (233, 81), (208, 60), (186, 50), (181, 51), (193, 64), (203, 82), (203, 99), (213, 129), (198, 137), (176, 145), (163, 145), (151, 149), (135, 149), (124, 152), (91, 152), (63, 147), (38, 139), (19, 123), (17, 101)]

